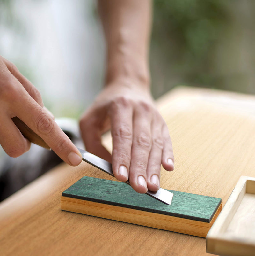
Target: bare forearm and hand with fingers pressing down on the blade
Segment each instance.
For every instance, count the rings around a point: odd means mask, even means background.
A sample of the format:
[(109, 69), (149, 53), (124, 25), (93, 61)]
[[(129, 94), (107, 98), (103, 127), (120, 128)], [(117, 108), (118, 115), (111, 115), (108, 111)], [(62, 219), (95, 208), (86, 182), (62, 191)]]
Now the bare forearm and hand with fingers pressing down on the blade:
[[(112, 161), (114, 176), (139, 193), (157, 191), (160, 165), (174, 168), (171, 139), (150, 94), (151, 1), (98, 1), (107, 43), (105, 87), (80, 120), (87, 151)], [(132, 17), (132, 18), (131, 18)], [(101, 135), (111, 129), (112, 155)]]

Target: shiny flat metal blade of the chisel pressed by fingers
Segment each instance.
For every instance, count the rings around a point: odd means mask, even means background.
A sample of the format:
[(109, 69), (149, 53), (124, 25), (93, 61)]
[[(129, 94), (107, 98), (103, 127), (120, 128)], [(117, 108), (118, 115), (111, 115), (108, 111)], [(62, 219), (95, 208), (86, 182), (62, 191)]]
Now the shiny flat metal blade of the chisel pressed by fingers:
[[(93, 165), (94, 167), (97, 167), (99, 170), (111, 175), (114, 177), (113, 175), (113, 168), (112, 168), (112, 164), (107, 162), (106, 160), (96, 156), (96, 155), (93, 155), (83, 149), (80, 149), (78, 148), (78, 150), (81, 152), (82, 154), (82, 159)], [(126, 181), (125, 183), (127, 183), (128, 185), (130, 185), (129, 181)], [(150, 191), (148, 190), (146, 192), (147, 195), (167, 204), (167, 205), (171, 205), (171, 202), (172, 202), (172, 198), (173, 198), (173, 193), (165, 190), (165, 189), (162, 189), (162, 188), (159, 188), (159, 190), (157, 190), (157, 192), (153, 192), (153, 191)]]

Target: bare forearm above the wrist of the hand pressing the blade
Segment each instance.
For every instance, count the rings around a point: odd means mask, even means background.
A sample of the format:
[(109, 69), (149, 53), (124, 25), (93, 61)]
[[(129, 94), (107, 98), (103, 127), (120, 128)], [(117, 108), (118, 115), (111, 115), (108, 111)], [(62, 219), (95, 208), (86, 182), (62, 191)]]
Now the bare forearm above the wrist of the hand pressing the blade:
[(106, 85), (123, 79), (149, 87), (150, 0), (98, 0), (107, 43)]

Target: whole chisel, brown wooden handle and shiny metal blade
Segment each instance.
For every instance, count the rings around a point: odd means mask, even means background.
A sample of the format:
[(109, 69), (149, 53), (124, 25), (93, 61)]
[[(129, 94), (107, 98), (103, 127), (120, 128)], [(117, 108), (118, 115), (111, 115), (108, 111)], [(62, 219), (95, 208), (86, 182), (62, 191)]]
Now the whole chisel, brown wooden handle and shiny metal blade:
[[(13, 117), (12, 121), (15, 123), (15, 125), (18, 127), (18, 129), (20, 130), (20, 132), (22, 133), (22, 135), (27, 138), (30, 142), (33, 142), (34, 144), (37, 144), (41, 147), (50, 149), (50, 147), (47, 145), (47, 143), (35, 132), (33, 132), (33, 130), (31, 130), (22, 120), (20, 120), (18, 117)], [(83, 149), (78, 148), (78, 150), (81, 152), (82, 154), (82, 159), (91, 164), (94, 167), (97, 167), (98, 169), (100, 169), (101, 171), (106, 172), (107, 174), (111, 175), (114, 177), (113, 175), (113, 168), (112, 168), (112, 164), (107, 162), (106, 160), (93, 155)], [(125, 183), (127, 183), (128, 185), (130, 185), (129, 181), (126, 181)], [(173, 193), (171, 193), (170, 191), (167, 191), (165, 189), (159, 188), (159, 190), (157, 190), (157, 192), (153, 192), (148, 190), (146, 192), (147, 195), (167, 204), (167, 205), (171, 205), (172, 202), (172, 198), (173, 198)]]

